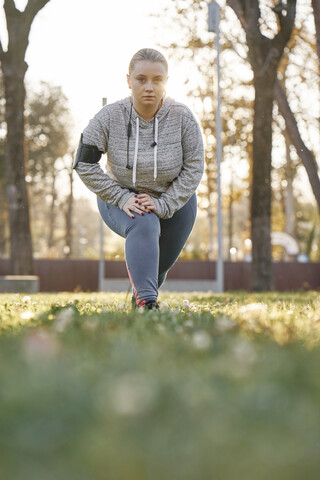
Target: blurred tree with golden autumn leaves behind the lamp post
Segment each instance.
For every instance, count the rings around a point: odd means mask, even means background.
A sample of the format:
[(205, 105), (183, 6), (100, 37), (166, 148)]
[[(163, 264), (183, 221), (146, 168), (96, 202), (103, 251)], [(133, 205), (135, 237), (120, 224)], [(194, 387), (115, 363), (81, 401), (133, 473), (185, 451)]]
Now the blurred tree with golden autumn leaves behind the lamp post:
[[(250, 142), (252, 142), (252, 81), (247, 75), (239, 74), (239, 65), (245, 64), (232, 48), (234, 34), (230, 29), (228, 12), (222, 10), (221, 18), (221, 69), (223, 71), (221, 88), (223, 90), (222, 108), (222, 144), (223, 170), (228, 165), (243, 165), (250, 161)], [(231, 11), (230, 11), (230, 14)], [(207, 32), (207, 3), (203, 0), (171, 0), (161, 14), (161, 33), (163, 37), (163, 21), (168, 22), (168, 31), (178, 32), (166, 38), (162, 44), (169, 57), (179, 62), (179, 67), (188, 71), (185, 80), (187, 95), (192, 99), (194, 110), (201, 123), (206, 137), (205, 175), (198, 190), (199, 209), (207, 213), (208, 219), (208, 258), (214, 258), (216, 239), (214, 216), (217, 204), (216, 180), (217, 168), (215, 162), (216, 122), (215, 94), (213, 73), (215, 70), (214, 40)], [(175, 28), (172, 29), (174, 22)], [(238, 68), (236, 68), (238, 67)], [(240, 67), (240, 72), (245, 68)], [(224, 177), (224, 175), (222, 175)], [(239, 181), (240, 180), (240, 181)], [(248, 178), (246, 179), (248, 180)], [(225, 183), (225, 182), (224, 182)], [(234, 177), (234, 190), (242, 189), (243, 179)], [(241, 187), (240, 185), (241, 184)], [(233, 207), (231, 208), (231, 210)], [(234, 218), (229, 217), (229, 227), (232, 230)], [(247, 224), (247, 218), (243, 219)], [(226, 226), (226, 222), (225, 225)], [(226, 229), (225, 229), (225, 233)], [(225, 252), (227, 253), (227, 252)]]

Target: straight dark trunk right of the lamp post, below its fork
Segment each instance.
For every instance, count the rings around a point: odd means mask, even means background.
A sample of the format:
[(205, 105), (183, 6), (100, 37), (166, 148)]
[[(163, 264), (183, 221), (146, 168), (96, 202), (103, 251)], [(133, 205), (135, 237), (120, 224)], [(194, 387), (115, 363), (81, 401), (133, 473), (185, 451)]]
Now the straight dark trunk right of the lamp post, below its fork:
[(252, 277), (254, 291), (272, 289), (271, 148), (273, 87), (270, 76), (254, 79), (253, 164), (251, 191)]

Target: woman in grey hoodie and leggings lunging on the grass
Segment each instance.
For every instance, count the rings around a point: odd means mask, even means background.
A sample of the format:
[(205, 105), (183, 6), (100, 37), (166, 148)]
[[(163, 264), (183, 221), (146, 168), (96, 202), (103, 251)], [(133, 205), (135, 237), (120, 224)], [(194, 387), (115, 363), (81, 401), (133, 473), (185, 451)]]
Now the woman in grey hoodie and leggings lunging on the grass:
[[(158, 308), (158, 289), (193, 228), (203, 173), (191, 111), (165, 96), (168, 64), (153, 49), (131, 59), (131, 97), (106, 105), (81, 135), (73, 168), (98, 196), (104, 222), (126, 239), (133, 303)], [(99, 166), (107, 153), (107, 173)]]

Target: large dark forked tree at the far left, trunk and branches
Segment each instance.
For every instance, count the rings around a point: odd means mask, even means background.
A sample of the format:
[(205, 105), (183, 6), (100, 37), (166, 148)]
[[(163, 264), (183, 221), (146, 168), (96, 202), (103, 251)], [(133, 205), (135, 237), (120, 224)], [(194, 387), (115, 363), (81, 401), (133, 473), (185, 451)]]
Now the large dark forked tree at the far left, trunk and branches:
[(32, 22), (49, 1), (29, 0), (22, 12), (16, 8), (13, 0), (4, 0), (8, 48), (5, 51), (0, 41), (0, 60), (6, 99), (7, 204), (12, 274), (33, 273), (29, 202), (25, 182), (24, 79), (28, 65), (24, 58)]

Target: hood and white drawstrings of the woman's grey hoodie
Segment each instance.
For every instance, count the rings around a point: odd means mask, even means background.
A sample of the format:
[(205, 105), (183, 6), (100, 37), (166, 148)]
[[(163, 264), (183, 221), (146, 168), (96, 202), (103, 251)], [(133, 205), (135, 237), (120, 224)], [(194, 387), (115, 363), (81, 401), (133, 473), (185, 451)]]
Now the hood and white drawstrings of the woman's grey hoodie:
[[(158, 173), (158, 159), (157, 159), (157, 153), (158, 153), (158, 125), (161, 121), (163, 121), (166, 116), (168, 115), (171, 106), (175, 103), (175, 101), (172, 98), (165, 97), (163, 99), (162, 105), (159, 108), (158, 112), (154, 116), (152, 120), (147, 122), (144, 118), (140, 117), (140, 115), (137, 114), (136, 110), (134, 109), (132, 105), (132, 99), (131, 97), (124, 98), (120, 102), (125, 110), (127, 111), (128, 114), (128, 128), (127, 128), (127, 135), (128, 135), (128, 147), (127, 147), (127, 168), (132, 169), (132, 184), (135, 186), (136, 184), (136, 175), (137, 175), (137, 164), (138, 164), (138, 156), (139, 156), (139, 129), (140, 128), (150, 128), (151, 125), (153, 125), (153, 180), (156, 181), (157, 179), (157, 173)], [(134, 159), (133, 159), (133, 165), (130, 165), (129, 162), (129, 142), (130, 142), (130, 137), (132, 134), (132, 128), (131, 124), (134, 122), (136, 124), (136, 138), (135, 138), (135, 149), (134, 149)]]

